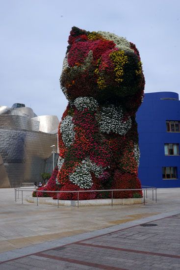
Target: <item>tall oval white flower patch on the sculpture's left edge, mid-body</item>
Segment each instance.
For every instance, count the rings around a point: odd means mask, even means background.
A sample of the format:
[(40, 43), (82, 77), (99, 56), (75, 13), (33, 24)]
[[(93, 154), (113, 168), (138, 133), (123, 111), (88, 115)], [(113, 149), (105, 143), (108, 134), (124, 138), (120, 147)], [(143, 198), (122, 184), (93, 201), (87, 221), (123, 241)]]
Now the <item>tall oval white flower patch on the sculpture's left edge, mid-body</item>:
[(75, 124), (73, 122), (73, 117), (66, 116), (60, 125), (60, 132), (62, 134), (62, 139), (64, 144), (69, 147), (75, 140)]

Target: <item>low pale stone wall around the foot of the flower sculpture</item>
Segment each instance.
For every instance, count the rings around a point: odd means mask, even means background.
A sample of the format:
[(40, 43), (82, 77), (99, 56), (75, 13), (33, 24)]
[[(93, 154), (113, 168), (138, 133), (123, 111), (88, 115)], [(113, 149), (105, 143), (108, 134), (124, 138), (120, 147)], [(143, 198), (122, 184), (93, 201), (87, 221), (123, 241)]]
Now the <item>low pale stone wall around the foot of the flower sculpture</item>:
[[(32, 195), (26, 195), (26, 201), (30, 203), (37, 203), (37, 197)], [(132, 198), (132, 199), (113, 199), (113, 205), (117, 204), (141, 204), (144, 202), (143, 198)], [(51, 204), (57, 205), (57, 200), (53, 200), (51, 197), (38, 197), (38, 204)], [(90, 206), (90, 205), (111, 205), (111, 199), (95, 199), (95, 200), (79, 200), (79, 206)], [(77, 206), (77, 201), (71, 200), (59, 200), (61, 206)]]

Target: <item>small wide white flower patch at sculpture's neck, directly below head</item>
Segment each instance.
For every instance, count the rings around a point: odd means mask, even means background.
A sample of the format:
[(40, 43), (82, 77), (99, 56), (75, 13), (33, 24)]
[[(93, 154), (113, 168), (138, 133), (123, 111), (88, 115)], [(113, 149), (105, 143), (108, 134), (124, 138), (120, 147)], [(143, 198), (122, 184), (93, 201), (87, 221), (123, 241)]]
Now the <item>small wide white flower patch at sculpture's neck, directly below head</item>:
[(78, 110), (88, 108), (89, 110), (97, 110), (98, 102), (92, 97), (79, 97), (75, 99), (74, 105)]

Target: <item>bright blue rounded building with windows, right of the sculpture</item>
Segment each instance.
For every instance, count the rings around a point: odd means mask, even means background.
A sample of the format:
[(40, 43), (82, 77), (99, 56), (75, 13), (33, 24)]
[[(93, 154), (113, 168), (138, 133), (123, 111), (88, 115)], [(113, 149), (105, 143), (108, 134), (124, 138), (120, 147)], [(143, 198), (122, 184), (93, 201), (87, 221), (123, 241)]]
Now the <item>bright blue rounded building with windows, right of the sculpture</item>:
[(180, 101), (174, 92), (145, 94), (136, 114), (143, 186), (180, 188)]

